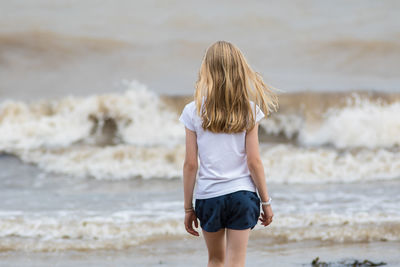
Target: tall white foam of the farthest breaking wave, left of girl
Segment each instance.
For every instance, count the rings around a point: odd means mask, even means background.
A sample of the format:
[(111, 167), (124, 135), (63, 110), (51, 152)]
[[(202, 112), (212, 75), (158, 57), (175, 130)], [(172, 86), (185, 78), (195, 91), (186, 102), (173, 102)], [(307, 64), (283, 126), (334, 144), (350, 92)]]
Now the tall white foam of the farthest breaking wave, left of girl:
[[(65, 97), (60, 100), (23, 103), (6, 101), (0, 106), (0, 150), (68, 147), (96, 143), (109, 133), (108, 142), (135, 145), (180, 142), (184, 131), (176, 115), (160, 98), (136, 81), (123, 94)], [(105, 128), (107, 121), (112, 121)], [(115, 127), (115, 129), (113, 129)]]

